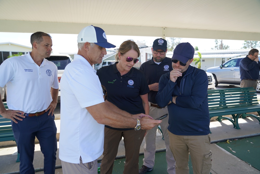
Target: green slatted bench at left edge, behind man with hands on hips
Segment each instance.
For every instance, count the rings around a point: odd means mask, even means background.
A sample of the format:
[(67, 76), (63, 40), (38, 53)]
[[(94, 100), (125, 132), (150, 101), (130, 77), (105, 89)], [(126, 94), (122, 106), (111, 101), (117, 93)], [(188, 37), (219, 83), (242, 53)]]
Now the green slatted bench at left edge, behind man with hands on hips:
[[(8, 109), (6, 103), (4, 103), (4, 107)], [(0, 115), (0, 142), (3, 141), (15, 141), (15, 137), (11, 126), (11, 120)], [(20, 162), (19, 158), (20, 153), (17, 152), (16, 162)]]

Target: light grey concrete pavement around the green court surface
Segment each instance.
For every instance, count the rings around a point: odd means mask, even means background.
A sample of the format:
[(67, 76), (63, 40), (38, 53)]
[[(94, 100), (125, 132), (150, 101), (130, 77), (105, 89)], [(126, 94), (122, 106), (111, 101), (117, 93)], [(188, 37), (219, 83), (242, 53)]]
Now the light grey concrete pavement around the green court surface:
[[(248, 165), (246, 162), (238, 159), (231, 153), (225, 151), (221, 147), (217, 146), (215, 143), (224, 140), (238, 139), (248, 136), (260, 135), (260, 124), (255, 118), (239, 118), (239, 125), (241, 129), (233, 128), (230, 121), (223, 120), (222, 122), (211, 121), (211, 150), (213, 152), (212, 160), (212, 174), (223, 174), (223, 173), (260, 173), (259, 170)], [(59, 124), (60, 120), (55, 120), (56, 126), (58, 128), (57, 137), (59, 138)], [(143, 153), (144, 141), (140, 148), (140, 153)], [(156, 139), (157, 150), (164, 150), (164, 140), (162, 140), (161, 132), (158, 130)], [(2, 146), (2, 144), (0, 144)], [(59, 142), (58, 142), (59, 147)], [(125, 149), (123, 141), (120, 142), (118, 157), (123, 157), (125, 154)], [(19, 172), (19, 164), (16, 163), (17, 158), (17, 147), (16, 146), (4, 146), (0, 149), (0, 173), (10, 174)], [(101, 160), (102, 156), (99, 158)], [(142, 163), (142, 161), (139, 161)], [(61, 161), (59, 159), (59, 149), (57, 151), (57, 161), (56, 166), (61, 167)], [(35, 156), (34, 156), (34, 167), (36, 170), (43, 169), (43, 154), (40, 151), (39, 144), (35, 145)], [(43, 173), (43, 171), (36, 172), (37, 174)], [(62, 173), (62, 169), (56, 169), (56, 173)]]

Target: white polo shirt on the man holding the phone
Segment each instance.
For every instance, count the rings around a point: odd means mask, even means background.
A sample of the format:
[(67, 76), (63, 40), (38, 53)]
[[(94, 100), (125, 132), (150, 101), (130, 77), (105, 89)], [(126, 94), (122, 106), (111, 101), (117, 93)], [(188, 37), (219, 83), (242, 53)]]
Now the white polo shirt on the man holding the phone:
[[(103, 153), (104, 125), (85, 107), (104, 102), (96, 71), (80, 55), (74, 55), (61, 78), (61, 127), (59, 158), (79, 164), (94, 161)], [(103, 109), (103, 108), (100, 108)]]

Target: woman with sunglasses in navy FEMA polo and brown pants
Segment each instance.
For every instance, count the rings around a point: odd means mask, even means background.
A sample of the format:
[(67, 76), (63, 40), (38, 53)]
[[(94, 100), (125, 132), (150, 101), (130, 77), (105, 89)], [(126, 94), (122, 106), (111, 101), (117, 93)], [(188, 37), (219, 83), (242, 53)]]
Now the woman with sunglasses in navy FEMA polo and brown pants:
[[(140, 51), (133, 40), (124, 41), (115, 56), (116, 63), (97, 70), (101, 85), (107, 92), (106, 104), (114, 104), (131, 114), (149, 114), (149, 87), (144, 73), (133, 68), (138, 62)], [(110, 103), (109, 103), (110, 102)], [(120, 120), (118, 120), (120, 122)], [(125, 144), (126, 162), (124, 174), (137, 174), (141, 143), (145, 130), (119, 129), (105, 125), (104, 152), (100, 167), (101, 174), (110, 174), (118, 152), (120, 140)]]

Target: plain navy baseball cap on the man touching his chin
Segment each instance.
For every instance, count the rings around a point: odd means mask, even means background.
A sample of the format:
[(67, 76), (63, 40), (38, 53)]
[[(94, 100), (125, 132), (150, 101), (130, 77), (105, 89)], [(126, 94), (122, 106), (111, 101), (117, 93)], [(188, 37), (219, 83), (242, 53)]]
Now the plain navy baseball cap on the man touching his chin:
[(188, 62), (189, 59), (194, 57), (194, 48), (189, 42), (180, 43), (173, 51), (172, 60), (178, 60), (182, 63)]

